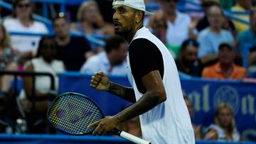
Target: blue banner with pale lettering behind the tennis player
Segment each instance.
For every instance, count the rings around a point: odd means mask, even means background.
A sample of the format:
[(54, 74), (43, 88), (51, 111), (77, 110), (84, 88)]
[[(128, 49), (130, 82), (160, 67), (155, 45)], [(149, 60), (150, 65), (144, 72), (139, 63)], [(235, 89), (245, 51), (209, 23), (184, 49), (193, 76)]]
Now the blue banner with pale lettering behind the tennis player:
[[(78, 92), (92, 98), (105, 115), (122, 111), (127, 101), (107, 92), (90, 88), (91, 75), (78, 73), (60, 74), (60, 94)], [(112, 82), (129, 87), (127, 77), (110, 77)], [(181, 79), (183, 94), (191, 98), (194, 107), (194, 123), (206, 128), (213, 123), (215, 107), (220, 102), (233, 106), (235, 124), (243, 140), (256, 141), (256, 84), (220, 80)]]

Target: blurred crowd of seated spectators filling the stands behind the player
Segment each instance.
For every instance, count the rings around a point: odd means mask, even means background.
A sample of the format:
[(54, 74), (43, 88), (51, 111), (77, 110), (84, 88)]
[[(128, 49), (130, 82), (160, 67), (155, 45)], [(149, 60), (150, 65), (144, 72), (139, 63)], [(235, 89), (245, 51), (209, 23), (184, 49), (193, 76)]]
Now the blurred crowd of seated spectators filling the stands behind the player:
[[(256, 72), (256, 9), (255, 0), (193, 0), (201, 5), (201, 12), (178, 11), (178, 0), (147, 0), (146, 4), (158, 4), (160, 9), (154, 16), (146, 17), (144, 26), (154, 33), (169, 49), (180, 72), (193, 77), (208, 79), (238, 80), (252, 77)], [(105, 4), (106, 3), (106, 4)], [(103, 7), (102, 8), (102, 4)], [(57, 74), (77, 71), (92, 74), (126, 75), (127, 43), (114, 35), (111, 20), (111, 1), (87, 0), (78, 9), (53, 16), (53, 31), (33, 18), (38, 9), (29, 0), (14, 0), (13, 11), (2, 16), (0, 23), (0, 70), (25, 72), (49, 72), (55, 77), (55, 89), (50, 89), (48, 77), (36, 77), (35, 94), (32, 94), (33, 79), (22, 77), (23, 89), (18, 96), (24, 113), (28, 117), (28, 133), (46, 133), (48, 102), (58, 92)], [(186, 5), (193, 8), (193, 5)], [(106, 9), (109, 8), (109, 9)], [(224, 15), (223, 9), (250, 11), (249, 15), (238, 15), (250, 24), (235, 21)], [(110, 13), (110, 14), (109, 14)], [(87, 35), (102, 35), (107, 38), (105, 46), (90, 43), (83, 36), (71, 35), (70, 31)], [(53, 36), (9, 35), (11, 32), (40, 33)], [(242, 52), (250, 48), (247, 67), (242, 67)], [(8, 97), (11, 76), (0, 76), (0, 131), (5, 132), (7, 117), (4, 111), (10, 103)], [(193, 120), (193, 106), (187, 97), (188, 111)], [(36, 115), (35, 115), (36, 113)], [(239, 141), (232, 108), (220, 104), (216, 109), (214, 123), (202, 131), (194, 125), (197, 139)], [(125, 123), (124, 130), (141, 135), (138, 118)], [(41, 129), (41, 131), (36, 131)], [(131, 128), (131, 129), (129, 129)], [(134, 128), (134, 129), (133, 129)]]

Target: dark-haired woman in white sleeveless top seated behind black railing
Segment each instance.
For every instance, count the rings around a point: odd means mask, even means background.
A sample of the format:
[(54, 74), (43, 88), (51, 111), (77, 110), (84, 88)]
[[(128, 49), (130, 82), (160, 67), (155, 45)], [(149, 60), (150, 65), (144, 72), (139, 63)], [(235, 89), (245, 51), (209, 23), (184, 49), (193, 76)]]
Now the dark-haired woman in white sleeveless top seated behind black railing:
[(55, 89), (50, 89), (50, 77), (35, 78), (35, 94), (33, 94), (33, 78), (23, 77), (23, 90), (19, 98), (26, 111), (28, 133), (46, 133), (46, 112), (48, 103), (58, 94), (58, 73), (64, 71), (62, 61), (56, 60), (56, 45), (52, 38), (42, 38), (35, 58), (25, 65), (26, 72), (48, 72), (55, 78)]

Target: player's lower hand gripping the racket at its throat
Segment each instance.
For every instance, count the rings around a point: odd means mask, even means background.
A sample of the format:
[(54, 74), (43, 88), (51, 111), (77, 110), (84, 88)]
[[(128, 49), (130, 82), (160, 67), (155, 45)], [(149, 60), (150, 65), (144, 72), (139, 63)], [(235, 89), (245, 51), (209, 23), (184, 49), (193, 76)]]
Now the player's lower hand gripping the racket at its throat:
[(118, 122), (114, 116), (106, 116), (105, 118), (100, 119), (100, 121), (96, 121), (95, 123), (91, 123), (88, 128), (92, 126), (97, 126), (95, 131), (92, 132), (92, 135), (105, 135), (108, 131), (118, 126)]

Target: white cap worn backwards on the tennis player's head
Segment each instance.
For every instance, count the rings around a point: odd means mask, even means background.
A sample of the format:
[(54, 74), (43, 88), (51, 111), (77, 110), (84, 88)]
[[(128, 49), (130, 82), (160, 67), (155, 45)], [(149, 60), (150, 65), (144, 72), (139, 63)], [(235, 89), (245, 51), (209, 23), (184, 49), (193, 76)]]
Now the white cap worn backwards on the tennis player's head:
[(139, 11), (144, 11), (145, 15), (154, 15), (149, 11), (146, 11), (146, 6), (144, 4), (144, 0), (124, 0), (124, 1), (113, 1), (112, 6), (115, 5), (124, 5), (131, 7), (133, 9), (137, 9)]

